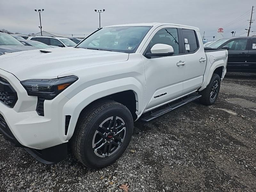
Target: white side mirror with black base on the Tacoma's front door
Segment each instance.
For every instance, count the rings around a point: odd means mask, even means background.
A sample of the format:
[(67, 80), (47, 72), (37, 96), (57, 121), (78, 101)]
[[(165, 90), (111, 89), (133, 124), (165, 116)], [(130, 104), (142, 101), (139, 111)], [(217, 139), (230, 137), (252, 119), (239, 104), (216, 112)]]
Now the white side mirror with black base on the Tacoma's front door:
[(147, 58), (152, 57), (165, 57), (173, 55), (173, 48), (171, 45), (167, 44), (155, 44), (151, 48), (151, 53), (146, 53)]

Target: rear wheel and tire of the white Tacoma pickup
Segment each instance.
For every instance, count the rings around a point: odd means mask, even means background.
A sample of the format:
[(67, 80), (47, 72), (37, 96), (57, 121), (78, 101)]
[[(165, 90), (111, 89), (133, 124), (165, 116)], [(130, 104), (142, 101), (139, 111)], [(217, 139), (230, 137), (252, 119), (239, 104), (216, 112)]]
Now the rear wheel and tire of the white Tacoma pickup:
[[(216, 88), (216, 84), (218, 86), (217, 88)], [(202, 95), (202, 97), (199, 98), (200, 103), (202, 103), (203, 105), (213, 105), (218, 98), (219, 92), (220, 92), (220, 76), (214, 73), (207, 87), (203, 91), (199, 92), (199, 94)], [(213, 97), (213, 94), (214, 94), (214, 97)]]

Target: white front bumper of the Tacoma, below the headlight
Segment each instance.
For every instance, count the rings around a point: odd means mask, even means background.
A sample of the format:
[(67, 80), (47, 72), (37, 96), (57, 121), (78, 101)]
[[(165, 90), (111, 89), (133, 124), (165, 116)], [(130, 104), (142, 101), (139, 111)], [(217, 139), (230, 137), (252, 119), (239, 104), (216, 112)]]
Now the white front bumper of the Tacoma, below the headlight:
[[(45, 149), (68, 142), (65, 135), (63, 106), (68, 98), (59, 94), (44, 101), (44, 116), (36, 112), (37, 97), (28, 96), (20, 81), (11, 73), (0, 69), (0, 76), (8, 80), (18, 95), (13, 108), (0, 102), (0, 131), (4, 138), (18, 147)], [(66, 114), (72, 115), (72, 114)]]

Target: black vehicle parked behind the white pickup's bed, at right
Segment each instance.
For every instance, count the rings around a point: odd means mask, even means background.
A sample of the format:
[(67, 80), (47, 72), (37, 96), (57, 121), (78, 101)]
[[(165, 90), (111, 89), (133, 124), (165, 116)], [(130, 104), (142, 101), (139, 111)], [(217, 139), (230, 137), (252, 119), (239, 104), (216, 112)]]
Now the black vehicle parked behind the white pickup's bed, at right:
[(256, 37), (220, 39), (210, 47), (228, 49), (228, 72), (256, 72)]

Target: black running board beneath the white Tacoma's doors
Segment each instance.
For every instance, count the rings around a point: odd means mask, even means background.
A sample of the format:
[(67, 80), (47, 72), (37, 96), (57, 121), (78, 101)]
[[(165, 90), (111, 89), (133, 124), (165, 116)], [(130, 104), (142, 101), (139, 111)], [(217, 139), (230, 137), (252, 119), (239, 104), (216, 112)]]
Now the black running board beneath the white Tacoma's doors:
[(192, 93), (191, 95), (188, 95), (188, 96), (185, 96), (185, 97), (181, 98), (178, 103), (172, 104), (172, 102), (171, 102), (171, 103), (168, 103), (167, 104), (168, 106), (165, 107), (165, 108), (162, 108), (162, 109), (160, 109), (158, 111), (155, 111), (155, 112), (151, 111), (151, 114), (141, 118), (141, 121), (148, 122), (148, 121), (150, 121), (152, 119), (155, 119), (156, 117), (159, 117), (159, 116), (161, 116), (161, 115), (163, 115), (163, 114), (165, 114), (169, 111), (172, 111), (173, 109), (176, 109), (176, 108), (178, 108), (182, 105), (185, 105), (190, 101), (196, 100), (199, 97), (201, 97), (201, 95), (199, 95), (197, 93)]

